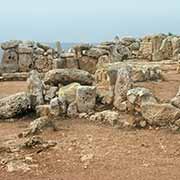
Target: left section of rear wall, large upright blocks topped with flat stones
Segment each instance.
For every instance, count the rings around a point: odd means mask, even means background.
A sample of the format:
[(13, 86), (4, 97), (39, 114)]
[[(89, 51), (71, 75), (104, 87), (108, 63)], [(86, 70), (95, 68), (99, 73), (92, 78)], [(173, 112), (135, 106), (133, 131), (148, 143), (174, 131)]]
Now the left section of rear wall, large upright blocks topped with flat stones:
[(4, 50), (1, 71), (3, 73), (47, 72), (52, 69), (53, 60), (59, 57), (57, 50), (46, 44), (32, 41), (8, 41), (1, 44)]

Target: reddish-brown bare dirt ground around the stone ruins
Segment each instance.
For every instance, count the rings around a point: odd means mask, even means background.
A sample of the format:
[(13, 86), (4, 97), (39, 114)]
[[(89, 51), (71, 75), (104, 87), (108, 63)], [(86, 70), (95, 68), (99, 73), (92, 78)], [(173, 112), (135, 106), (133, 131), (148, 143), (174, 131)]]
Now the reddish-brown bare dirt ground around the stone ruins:
[[(137, 84), (150, 88), (161, 100), (171, 99), (179, 85), (180, 75), (175, 72), (166, 74), (166, 81)], [(5, 96), (25, 88), (24, 82), (1, 82), (0, 94)], [(17, 134), (30, 120), (26, 117), (14, 123), (1, 122), (0, 143), (9, 139), (18, 142)], [(57, 125), (59, 131), (48, 129), (40, 134), (58, 144), (32, 154), (36, 168), (9, 173), (0, 166), (0, 180), (180, 179), (179, 133), (168, 129), (122, 130), (79, 119), (59, 120)], [(89, 160), (83, 161), (84, 156)]]

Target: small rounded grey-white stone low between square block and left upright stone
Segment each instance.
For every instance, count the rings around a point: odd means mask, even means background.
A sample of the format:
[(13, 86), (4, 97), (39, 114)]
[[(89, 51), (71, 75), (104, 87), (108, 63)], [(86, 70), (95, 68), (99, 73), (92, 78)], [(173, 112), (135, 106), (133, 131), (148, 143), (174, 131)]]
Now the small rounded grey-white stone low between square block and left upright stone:
[(57, 117), (61, 114), (65, 114), (67, 111), (67, 104), (65, 99), (62, 97), (53, 98), (50, 101), (50, 113), (51, 115)]

